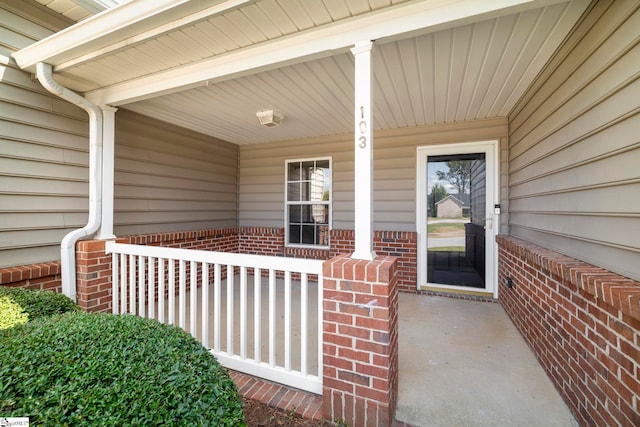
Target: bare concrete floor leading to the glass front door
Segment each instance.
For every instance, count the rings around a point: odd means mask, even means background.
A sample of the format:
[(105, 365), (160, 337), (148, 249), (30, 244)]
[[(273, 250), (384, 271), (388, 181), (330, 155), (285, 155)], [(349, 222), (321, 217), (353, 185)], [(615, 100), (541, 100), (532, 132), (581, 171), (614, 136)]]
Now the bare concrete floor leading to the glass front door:
[(396, 420), (414, 426), (577, 426), (499, 304), (399, 295)]

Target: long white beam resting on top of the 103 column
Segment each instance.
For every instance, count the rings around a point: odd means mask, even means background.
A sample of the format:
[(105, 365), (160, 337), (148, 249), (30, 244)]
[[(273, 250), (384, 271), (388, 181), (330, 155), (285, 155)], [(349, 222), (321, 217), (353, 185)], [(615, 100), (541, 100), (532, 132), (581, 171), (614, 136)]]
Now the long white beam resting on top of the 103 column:
[(263, 42), (224, 55), (86, 93), (97, 105), (125, 105), (155, 96), (346, 51), (356, 42), (393, 39), (566, 0), (431, 0), (386, 9)]

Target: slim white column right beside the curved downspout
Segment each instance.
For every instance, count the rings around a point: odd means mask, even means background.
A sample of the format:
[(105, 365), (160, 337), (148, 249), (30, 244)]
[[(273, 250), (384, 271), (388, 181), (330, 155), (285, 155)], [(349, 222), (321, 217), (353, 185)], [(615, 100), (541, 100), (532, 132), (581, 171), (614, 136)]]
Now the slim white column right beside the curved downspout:
[(115, 167), (115, 134), (117, 108), (109, 105), (102, 109), (102, 224), (96, 239), (115, 239), (113, 234), (113, 180)]

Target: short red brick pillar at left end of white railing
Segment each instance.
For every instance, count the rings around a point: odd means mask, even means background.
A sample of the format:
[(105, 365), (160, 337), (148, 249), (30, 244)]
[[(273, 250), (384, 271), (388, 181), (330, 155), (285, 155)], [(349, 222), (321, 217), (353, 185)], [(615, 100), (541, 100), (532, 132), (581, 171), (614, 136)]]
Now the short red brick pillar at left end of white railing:
[[(128, 243), (127, 239), (120, 239)], [(85, 311), (111, 313), (111, 255), (105, 240), (81, 240), (76, 244), (77, 304)]]

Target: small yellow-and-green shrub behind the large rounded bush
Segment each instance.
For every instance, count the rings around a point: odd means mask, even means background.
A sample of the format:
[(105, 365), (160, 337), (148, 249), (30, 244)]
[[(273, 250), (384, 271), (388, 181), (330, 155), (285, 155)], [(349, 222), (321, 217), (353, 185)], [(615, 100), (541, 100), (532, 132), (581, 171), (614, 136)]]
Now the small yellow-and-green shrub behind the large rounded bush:
[[(19, 316), (16, 316), (17, 309), (20, 309)], [(63, 294), (0, 286), (0, 329), (45, 316), (79, 310), (80, 308)]]

